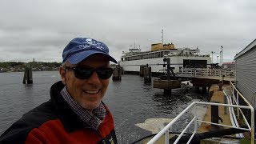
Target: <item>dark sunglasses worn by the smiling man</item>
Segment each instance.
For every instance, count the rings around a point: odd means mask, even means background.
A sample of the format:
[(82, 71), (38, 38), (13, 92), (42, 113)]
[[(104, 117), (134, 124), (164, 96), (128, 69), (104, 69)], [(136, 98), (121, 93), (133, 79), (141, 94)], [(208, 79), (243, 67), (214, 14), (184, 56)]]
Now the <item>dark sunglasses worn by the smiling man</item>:
[(101, 67), (96, 69), (90, 69), (86, 67), (78, 66), (66, 66), (66, 70), (74, 70), (74, 76), (78, 79), (87, 79), (90, 78), (94, 71), (98, 74), (98, 77), (101, 79), (108, 79), (113, 74), (113, 69), (110, 67)]

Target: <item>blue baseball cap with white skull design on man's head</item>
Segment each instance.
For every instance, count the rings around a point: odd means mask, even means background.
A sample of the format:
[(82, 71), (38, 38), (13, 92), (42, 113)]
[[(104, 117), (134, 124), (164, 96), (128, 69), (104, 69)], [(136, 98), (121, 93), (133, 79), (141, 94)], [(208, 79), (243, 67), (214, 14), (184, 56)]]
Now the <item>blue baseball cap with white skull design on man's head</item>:
[(104, 54), (110, 58), (111, 62), (118, 63), (109, 54), (109, 48), (103, 42), (98, 42), (93, 38), (74, 38), (64, 48), (62, 62), (69, 61), (71, 64), (78, 64), (92, 54)]

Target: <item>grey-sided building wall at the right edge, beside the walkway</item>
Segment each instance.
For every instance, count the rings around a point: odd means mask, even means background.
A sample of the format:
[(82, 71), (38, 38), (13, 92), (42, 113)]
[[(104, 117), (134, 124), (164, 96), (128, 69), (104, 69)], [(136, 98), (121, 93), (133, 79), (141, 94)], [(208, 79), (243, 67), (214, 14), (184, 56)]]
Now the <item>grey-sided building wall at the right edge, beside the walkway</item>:
[(256, 96), (256, 39), (234, 57), (236, 86), (255, 109)]

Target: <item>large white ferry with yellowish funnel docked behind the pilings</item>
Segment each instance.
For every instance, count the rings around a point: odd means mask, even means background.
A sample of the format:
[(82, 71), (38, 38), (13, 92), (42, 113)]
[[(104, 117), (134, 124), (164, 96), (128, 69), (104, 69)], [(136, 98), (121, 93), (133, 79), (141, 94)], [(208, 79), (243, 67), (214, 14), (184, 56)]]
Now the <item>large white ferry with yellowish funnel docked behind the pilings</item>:
[(156, 43), (151, 45), (150, 51), (141, 51), (140, 48), (132, 48), (128, 52), (122, 52), (120, 66), (125, 73), (138, 73), (140, 66), (148, 64), (152, 73), (164, 73), (166, 69), (162, 64), (163, 58), (170, 58), (170, 67), (174, 73), (182, 68), (206, 68), (211, 63), (210, 54), (199, 54), (200, 50), (190, 48), (175, 48), (173, 43)]

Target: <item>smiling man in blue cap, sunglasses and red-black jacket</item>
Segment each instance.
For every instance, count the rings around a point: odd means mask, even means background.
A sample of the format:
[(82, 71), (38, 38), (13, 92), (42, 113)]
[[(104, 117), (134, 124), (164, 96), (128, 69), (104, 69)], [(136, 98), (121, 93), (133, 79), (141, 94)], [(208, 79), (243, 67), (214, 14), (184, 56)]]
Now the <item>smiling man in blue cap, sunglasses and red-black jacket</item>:
[(74, 38), (64, 48), (50, 101), (30, 110), (0, 137), (0, 143), (117, 143), (114, 120), (102, 102), (113, 70), (108, 47)]

